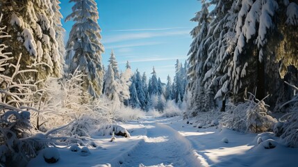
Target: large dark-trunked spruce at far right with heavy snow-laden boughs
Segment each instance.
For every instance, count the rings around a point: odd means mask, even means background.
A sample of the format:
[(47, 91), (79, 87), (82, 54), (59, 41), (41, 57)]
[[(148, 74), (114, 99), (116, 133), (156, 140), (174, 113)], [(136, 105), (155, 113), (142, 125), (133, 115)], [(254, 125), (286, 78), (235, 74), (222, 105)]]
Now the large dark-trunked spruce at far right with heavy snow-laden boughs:
[[(249, 92), (256, 90), (257, 99), (263, 99), (267, 92), (272, 93), (266, 99), (270, 106), (290, 100), (292, 89), (285, 88), (283, 80), (297, 81), (297, 77), (290, 74), (285, 76), (288, 72), (286, 69), (297, 71), (297, 61), (292, 61), (290, 56), (295, 55), (293, 50), (297, 50), (297, 34), (294, 31), (295, 24), (289, 24), (286, 20), (292, 19), (290, 15), (297, 13), (297, 3), (243, 0), (241, 4), (233, 3), (232, 8), (238, 8), (235, 10), (238, 17), (235, 46), (230, 50), (233, 58), (229, 61), (228, 71), (231, 72), (229, 85), (235, 100), (239, 102), (243, 99), (245, 89)], [(284, 15), (287, 12), (288, 15)], [(285, 29), (287, 33), (292, 32), (291, 38), (286, 38)], [(285, 41), (290, 45), (285, 45)]]

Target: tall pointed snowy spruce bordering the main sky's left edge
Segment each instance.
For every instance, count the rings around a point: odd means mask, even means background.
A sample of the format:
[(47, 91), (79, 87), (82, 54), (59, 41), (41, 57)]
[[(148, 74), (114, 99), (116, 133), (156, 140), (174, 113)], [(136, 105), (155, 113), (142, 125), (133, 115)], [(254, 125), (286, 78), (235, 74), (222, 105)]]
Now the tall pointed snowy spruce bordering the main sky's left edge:
[(83, 77), (83, 88), (92, 97), (101, 95), (104, 70), (101, 64), (101, 53), (104, 51), (101, 45), (100, 27), (97, 24), (99, 13), (97, 3), (94, 0), (70, 0), (74, 2), (72, 13), (66, 17), (66, 21), (74, 20), (72, 31), (66, 45), (67, 73), (72, 74), (77, 68)]

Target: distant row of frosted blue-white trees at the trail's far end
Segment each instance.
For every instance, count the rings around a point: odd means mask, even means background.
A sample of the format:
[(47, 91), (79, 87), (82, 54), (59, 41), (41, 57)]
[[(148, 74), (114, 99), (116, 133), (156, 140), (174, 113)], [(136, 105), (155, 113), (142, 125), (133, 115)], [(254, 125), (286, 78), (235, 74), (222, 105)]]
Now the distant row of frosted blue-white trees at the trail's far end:
[(109, 65), (104, 74), (103, 93), (119, 105), (124, 104), (143, 111), (151, 109), (163, 111), (166, 102), (171, 100), (174, 100), (181, 107), (183, 101), (186, 103), (188, 95), (185, 90), (188, 83), (187, 68), (186, 61), (183, 65), (179, 60), (176, 60), (174, 81), (172, 82), (168, 76), (167, 84), (165, 84), (157, 76), (154, 67), (149, 80), (145, 72), (143, 74), (140, 74), (138, 70), (132, 72), (129, 61), (126, 63), (126, 70), (119, 72), (117, 60), (112, 51)]

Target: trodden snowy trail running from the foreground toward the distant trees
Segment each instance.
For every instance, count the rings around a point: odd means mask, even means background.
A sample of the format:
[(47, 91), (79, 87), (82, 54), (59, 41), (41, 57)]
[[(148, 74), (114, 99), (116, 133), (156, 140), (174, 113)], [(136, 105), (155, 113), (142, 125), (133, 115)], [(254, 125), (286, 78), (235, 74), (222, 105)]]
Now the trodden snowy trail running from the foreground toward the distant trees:
[(179, 132), (155, 121), (144, 121), (147, 136), (129, 152), (121, 166), (201, 166), (190, 142)]

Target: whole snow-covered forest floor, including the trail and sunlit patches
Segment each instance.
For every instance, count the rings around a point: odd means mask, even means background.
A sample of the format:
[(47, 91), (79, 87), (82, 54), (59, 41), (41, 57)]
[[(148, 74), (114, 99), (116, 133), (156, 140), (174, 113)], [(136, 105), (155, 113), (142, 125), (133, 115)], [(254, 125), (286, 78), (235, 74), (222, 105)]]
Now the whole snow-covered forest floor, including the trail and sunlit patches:
[[(230, 129), (199, 129), (186, 124), (181, 117), (153, 118), (118, 125), (125, 127), (130, 138), (94, 135), (97, 148), (91, 154), (59, 148), (56, 164), (44, 162), (42, 152), (28, 164), (31, 166), (297, 166), (298, 148), (286, 148), (271, 133), (243, 134)], [(261, 138), (261, 139), (260, 139)], [(267, 139), (276, 147), (265, 149)], [(260, 142), (258, 144), (258, 141)], [(274, 142), (271, 142), (274, 144)]]

